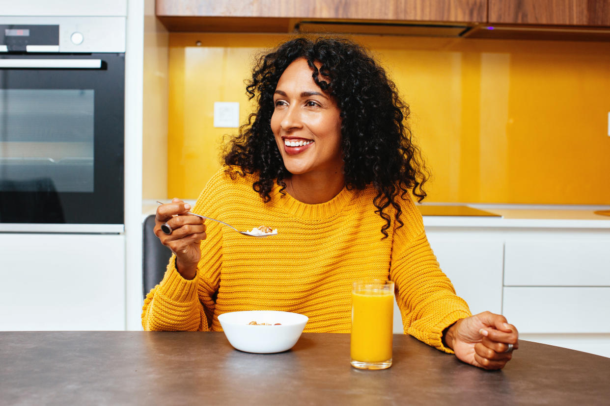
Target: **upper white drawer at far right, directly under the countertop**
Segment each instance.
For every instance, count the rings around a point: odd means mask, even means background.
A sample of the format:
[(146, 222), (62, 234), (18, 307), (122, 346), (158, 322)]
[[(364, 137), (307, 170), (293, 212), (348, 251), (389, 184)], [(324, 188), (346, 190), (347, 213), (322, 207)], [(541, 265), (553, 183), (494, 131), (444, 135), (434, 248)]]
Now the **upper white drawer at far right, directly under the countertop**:
[(508, 240), (506, 286), (610, 286), (610, 240)]

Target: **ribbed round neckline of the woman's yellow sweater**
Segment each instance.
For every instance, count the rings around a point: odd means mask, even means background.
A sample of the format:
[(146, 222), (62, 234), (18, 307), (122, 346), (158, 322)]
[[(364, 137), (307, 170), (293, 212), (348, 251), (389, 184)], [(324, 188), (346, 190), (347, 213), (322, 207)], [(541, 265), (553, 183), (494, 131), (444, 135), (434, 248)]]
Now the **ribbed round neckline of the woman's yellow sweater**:
[(345, 205), (353, 199), (357, 192), (355, 189), (348, 190), (347, 187), (343, 186), (343, 189), (339, 194), (331, 200), (325, 201), (325, 203), (310, 205), (296, 200), (286, 191), (284, 191), (285, 194), (281, 194), (279, 192), (280, 189), (281, 186), (278, 184), (274, 185), (274, 202), (278, 208), (283, 209), (294, 217), (304, 220), (323, 220), (336, 215), (343, 210)]

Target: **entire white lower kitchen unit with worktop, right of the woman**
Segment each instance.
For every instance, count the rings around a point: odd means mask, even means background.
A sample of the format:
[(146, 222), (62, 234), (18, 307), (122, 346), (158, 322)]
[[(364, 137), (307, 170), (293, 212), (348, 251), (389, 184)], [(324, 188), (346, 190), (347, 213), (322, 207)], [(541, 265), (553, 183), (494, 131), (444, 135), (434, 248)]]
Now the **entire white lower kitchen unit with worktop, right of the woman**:
[(524, 340), (610, 357), (609, 221), (424, 217), (424, 224), (473, 313), (502, 313)]

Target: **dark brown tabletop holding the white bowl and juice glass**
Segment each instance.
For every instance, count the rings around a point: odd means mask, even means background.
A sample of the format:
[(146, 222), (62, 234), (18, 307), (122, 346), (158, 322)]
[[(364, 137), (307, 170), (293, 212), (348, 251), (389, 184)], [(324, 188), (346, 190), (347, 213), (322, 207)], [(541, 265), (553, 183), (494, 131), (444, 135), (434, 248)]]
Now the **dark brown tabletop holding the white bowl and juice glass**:
[(484, 371), (394, 335), (392, 368), (361, 371), (348, 334), (248, 354), (222, 333), (0, 332), (0, 404), (608, 404), (610, 359), (519, 345), (502, 371)]

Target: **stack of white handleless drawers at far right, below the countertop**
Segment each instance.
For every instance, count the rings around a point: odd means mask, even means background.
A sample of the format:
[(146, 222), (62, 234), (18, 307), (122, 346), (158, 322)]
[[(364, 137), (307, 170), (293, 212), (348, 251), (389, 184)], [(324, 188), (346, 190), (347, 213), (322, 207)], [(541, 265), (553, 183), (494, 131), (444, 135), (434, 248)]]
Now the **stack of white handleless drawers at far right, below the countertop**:
[(503, 311), (524, 340), (610, 357), (609, 231), (508, 233)]

